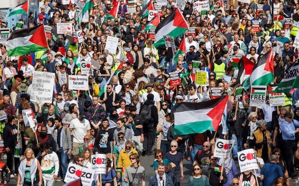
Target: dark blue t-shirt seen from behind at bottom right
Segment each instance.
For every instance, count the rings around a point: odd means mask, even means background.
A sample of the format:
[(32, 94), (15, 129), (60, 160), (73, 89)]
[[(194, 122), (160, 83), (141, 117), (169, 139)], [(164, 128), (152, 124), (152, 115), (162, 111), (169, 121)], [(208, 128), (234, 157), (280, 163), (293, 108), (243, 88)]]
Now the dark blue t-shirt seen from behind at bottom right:
[(261, 175), (264, 175), (263, 186), (273, 186), (276, 179), (278, 179), (279, 177), (284, 177), (282, 168), (272, 162), (263, 166)]

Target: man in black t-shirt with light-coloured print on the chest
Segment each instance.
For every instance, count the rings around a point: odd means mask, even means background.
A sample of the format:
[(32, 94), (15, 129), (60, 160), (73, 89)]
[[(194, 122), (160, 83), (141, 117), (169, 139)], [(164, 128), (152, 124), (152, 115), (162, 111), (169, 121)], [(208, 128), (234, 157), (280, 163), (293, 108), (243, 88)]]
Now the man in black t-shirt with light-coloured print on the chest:
[(109, 129), (108, 119), (103, 119), (102, 127), (95, 131), (95, 147), (99, 154), (106, 154), (111, 159), (111, 146), (113, 142), (113, 131)]

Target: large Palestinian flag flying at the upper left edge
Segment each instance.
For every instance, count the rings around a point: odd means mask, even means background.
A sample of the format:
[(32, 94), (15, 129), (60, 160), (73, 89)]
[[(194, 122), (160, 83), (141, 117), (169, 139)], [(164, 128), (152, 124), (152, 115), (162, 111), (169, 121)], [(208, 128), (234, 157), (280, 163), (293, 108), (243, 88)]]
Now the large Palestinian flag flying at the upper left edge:
[(22, 56), (47, 49), (43, 24), (12, 32), (6, 44), (8, 56)]

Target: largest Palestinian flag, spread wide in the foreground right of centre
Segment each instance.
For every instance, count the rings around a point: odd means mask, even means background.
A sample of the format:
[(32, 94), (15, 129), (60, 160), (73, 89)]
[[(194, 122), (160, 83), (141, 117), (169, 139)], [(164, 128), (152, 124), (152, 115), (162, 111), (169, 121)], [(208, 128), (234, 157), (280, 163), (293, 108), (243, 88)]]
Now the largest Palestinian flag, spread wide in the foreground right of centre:
[(217, 131), (228, 96), (199, 103), (182, 102), (175, 106), (174, 134), (185, 135)]

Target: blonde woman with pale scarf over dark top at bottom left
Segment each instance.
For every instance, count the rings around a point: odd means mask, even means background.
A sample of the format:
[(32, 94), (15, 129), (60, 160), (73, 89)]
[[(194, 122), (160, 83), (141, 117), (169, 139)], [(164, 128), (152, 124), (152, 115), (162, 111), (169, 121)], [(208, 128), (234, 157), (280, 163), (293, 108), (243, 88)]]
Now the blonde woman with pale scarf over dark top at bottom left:
[(18, 167), (16, 186), (41, 186), (42, 171), (31, 148), (26, 148)]

